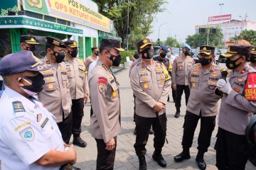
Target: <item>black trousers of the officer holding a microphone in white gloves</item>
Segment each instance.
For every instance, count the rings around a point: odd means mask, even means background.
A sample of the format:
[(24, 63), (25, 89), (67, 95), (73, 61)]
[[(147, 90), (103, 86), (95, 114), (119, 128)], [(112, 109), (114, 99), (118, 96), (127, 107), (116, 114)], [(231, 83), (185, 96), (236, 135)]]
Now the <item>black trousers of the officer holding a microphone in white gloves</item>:
[(236, 135), (218, 128), (216, 150), (216, 166), (220, 170), (244, 170), (247, 163), (245, 135)]

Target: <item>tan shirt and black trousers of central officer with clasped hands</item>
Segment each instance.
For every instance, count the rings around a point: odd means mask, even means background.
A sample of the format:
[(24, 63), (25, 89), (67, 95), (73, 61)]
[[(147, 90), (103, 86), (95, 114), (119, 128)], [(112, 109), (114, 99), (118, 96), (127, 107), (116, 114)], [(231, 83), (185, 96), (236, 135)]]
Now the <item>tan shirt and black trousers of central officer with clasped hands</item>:
[(145, 141), (148, 140), (151, 125), (154, 130), (154, 147), (156, 154), (161, 154), (164, 146), (166, 132), (166, 110), (157, 113), (163, 125), (161, 128), (157, 114), (153, 110), (156, 102), (167, 103), (169, 91), (171, 89), (171, 76), (166, 67), (155, 62), (147, 66), (144, 62), (137, 63), (131, 72), (130, 82), (134, 95), (136, 96), (136, 142), (134, 148), (138, 157), (146, 154)]

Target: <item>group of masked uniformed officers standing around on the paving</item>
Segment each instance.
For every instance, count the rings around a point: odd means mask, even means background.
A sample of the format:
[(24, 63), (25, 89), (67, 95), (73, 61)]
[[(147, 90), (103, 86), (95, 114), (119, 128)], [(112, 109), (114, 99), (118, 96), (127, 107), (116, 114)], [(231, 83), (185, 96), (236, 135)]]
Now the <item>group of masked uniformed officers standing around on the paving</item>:
[[(23, 51), (6, 55), (0, 62), (0, 74), (6, 85), (0, 101), (4, 108), (0, 111), (3, 168), (78, 169), (73, 166), (77, 159), (75, 149), (68, 144), (73, 134), (73, 144), (87, 145), (80, 132), (84, 103), (90, 94), (90, 127), (97, 143), (96, 169), (114, 169), (121, 113), (119, 83), (110, 67), (119, 66), (119, 52), (124, 51), (120, 42), (103, 38), (99, 49), (92, 49), (89, 75), (85, 63), (76, 57), (78, 44), (74, 40), (63, 42), (46, 37), (43, 60), (33, 55), (36, 45), (38, 41), (33, 36), (22, 36)], [(256, 61), (255, 47), (230, 45), (223, 54), (227, 57), (228, 72), (213, 63), (212, 46), (200, 47), (198, 64), (189, 56), (191, 47), (187, 44), (174, 62), (166, 57), (169, 49), (164, 45), (159, 57), (153, 60), (154, 48), (148, 38), (137, 42), (137, 49), (140, 58), (132, 64), (129, 77), (135, 96), (134, 149), (139, 169), (146, 169), (144, 155), (151, 127), (152, 157), (159, 166), (167, 165), (161, 151), (166, 140), (166, 104), (171, 87), (176, 91), (175, 118), (180, 115), (183, 91), (187, 105), (183, 151), (174, 157), (175, 162), (191, 157), (189, 148), (200, 119), (196, 162), (200, 169), (206, 169), (203, 156), (210, 146), (218, 114), (216, 166), (245, 169), (248, 158), (245, 127), (250, 115), (256, 113), (256, 71), (252, 68)]]

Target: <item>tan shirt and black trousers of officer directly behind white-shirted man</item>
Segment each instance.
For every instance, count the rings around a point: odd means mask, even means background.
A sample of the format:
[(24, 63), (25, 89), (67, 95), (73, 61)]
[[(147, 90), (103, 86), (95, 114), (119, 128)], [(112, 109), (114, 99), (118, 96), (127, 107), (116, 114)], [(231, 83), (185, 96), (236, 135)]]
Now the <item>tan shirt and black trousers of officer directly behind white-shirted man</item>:
[[(63, 135), (64, 142), (69, 142), (71, 136), (72, 114), (70, 89), (68, 86), (68, 74), (64, 62), (50, 63), (45, 57), (41, 60), (43, 63), (51, 64), (53, 67), (41, 72), (46, 84), (43, 90), (38, 93), (38, 99), (46, 105), (50, 113), (56, 117), (56, 122)], [(67, 121), (65, 121), (67, 120)], [(63, 125), (63, 122), (68, 125)]]

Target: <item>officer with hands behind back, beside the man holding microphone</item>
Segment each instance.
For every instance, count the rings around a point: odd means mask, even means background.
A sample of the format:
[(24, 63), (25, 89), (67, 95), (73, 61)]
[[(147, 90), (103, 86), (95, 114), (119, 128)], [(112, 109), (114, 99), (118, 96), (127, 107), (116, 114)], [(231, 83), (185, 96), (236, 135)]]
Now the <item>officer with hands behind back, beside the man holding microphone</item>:
[(201, 119), (201, 127), (198, 137), (198, 154), (196, 162), (199, 169), (206, 169), (203, 154), (210, 146), (210, 138), (215, 128), (215, 118), (218, 114), (218, 100), (220, 96), (214, 94), (218, 79), (221, 78), (221, 68), (213, 64), (215, 47), (203, 45), (199, 51), (199, 63), (194, 64), (188, 70), (188, 86), (191, 94), (186, 108), (183, 125), (182, 147), (183, 152), (174, 157), (175, 162), (189, 159), (189, 148), (193, 143), (193, 135)]

